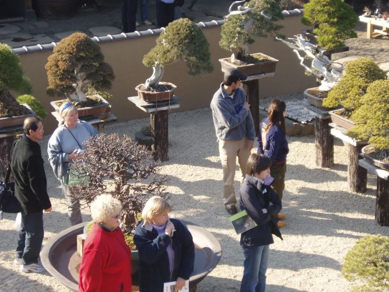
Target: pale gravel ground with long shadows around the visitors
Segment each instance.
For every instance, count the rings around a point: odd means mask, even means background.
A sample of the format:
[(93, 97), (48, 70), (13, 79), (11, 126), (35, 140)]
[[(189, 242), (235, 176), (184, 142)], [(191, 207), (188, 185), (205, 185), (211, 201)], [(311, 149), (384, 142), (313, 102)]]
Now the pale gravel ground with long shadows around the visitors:
[[(134, 137), (148, 119), (106, 127)], [(209, 109), (170, 115), (169, 157), (162, 172), (170, 178), (169, 192), (174, 218), (205, 227), (220, 241), (223, 256), (218, 266), (199, 285), (198, 292), (239, 291), (243, 254), (229, 215), (222, 204), (222, 169)], [(46, 145), (41, 141), (53, 212), (44, 214), (45, 238), (70, 227), (59, 183), (47, 162)], [(347, 151), (335, 142), (335, 166), (315, 165), (314, 137), (288, 137), (290, 154), (286, 172), (283, 213), (287, 226), (284, 240), (275, 238), (270, 247), (267, 270), (269, 292), (318, 292), (351, 290), (352, 284), (340, 274), (344, 256), (355, 241), (368, 234), (389, 236), (388, 227), (374, 221), (375, 177), (368, 178), (368, 191), (347, 190)], [(256, 148), (253, 149), (253, 152)], [(238, 176), (235, 187), (239, 188)], [(84, 212), (84, 220), (90, 215)], [(14, 215), (0, 220), (0, 291), (68, 291), (50, 274), (23, 274), (12, 261), (17, 235)]]

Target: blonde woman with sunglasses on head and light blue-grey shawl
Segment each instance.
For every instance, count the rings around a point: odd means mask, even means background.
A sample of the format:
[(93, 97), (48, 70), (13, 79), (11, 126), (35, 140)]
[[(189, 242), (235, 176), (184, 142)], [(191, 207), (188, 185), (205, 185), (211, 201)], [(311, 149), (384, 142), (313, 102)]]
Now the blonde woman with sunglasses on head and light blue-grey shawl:
[(65, 194), (71, 225), (76, 225), (82, 222), (80, 202), (71, 196), (68, 170), (76, 155), (83, 153), (83, 143), (98, 132), (87, 122), (78, 120), (77, 108), (71, 102), (61, 105), (59, 116), (61, 121), (50, 137), (47, 152), (54, 175), (61, 182)]

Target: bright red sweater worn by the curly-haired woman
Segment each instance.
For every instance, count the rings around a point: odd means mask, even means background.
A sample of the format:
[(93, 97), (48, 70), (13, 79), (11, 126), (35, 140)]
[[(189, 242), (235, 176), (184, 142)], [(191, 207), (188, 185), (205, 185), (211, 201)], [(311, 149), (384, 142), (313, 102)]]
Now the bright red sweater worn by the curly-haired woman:
[(92, 225), (79, 274), (79, 292), (131, 292), (131, 251), (119, 227), (107, 232)]

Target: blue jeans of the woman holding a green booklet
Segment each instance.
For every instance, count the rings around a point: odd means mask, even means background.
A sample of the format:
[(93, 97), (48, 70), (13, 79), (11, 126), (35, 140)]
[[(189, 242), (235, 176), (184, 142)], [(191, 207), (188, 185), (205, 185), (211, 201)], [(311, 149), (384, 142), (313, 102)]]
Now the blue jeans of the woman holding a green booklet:
[(243, 278), (240, 292), (265, 292), (269, 246), (253, 246), (243, 249)]

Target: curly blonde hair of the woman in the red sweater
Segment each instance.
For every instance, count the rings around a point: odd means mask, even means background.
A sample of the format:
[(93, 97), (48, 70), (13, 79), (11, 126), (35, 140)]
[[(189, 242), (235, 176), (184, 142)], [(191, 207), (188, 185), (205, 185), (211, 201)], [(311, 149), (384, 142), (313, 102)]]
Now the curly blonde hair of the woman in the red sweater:
[(92, 215), (94, 222), (105, 223), (115, 213), (120, 214), (122, 208), (122, 203), (118, 199), (111, 195), (103, 194), (97, 196), (90, 203), (90, 215)]

